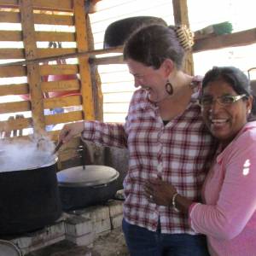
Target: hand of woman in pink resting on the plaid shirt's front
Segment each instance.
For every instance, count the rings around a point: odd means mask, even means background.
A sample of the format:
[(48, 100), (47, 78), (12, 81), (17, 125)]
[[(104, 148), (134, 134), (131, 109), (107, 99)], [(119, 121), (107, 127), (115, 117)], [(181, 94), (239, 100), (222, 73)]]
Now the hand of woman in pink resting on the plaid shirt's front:
[(148, 180), (144, 185), (145, 195), (148, 201), (159, 206), (172, 205), (172, 196), (177, 193), (177, 189), (172, 184), (155, 178)]

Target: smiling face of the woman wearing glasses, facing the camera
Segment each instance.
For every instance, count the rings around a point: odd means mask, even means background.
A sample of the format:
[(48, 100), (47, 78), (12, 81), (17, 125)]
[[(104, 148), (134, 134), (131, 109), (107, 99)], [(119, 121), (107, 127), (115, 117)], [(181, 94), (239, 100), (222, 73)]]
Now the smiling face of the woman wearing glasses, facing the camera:
[(203, 89), (203, 96), (209, 96), (213, 100), (209, 106), (201, 107), (203, 119), (212, 135), (227, 145), (247, 123), (247, 113), (252, 108), (252, 99), (241, 97), (227, 105), (219, 104), (216, 99), (220, 97), (238, 96), (232, 86), (222, 79), (209, 82)]

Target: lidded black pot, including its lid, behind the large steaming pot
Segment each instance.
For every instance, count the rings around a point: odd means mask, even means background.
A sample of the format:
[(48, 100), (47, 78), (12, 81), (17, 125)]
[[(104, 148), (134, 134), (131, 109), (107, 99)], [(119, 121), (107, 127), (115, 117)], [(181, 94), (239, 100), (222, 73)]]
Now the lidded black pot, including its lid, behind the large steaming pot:
[(113, 198), (119, 172), (109, 166), (76, 166), (57, 173), (62, 209), (75, 210)]

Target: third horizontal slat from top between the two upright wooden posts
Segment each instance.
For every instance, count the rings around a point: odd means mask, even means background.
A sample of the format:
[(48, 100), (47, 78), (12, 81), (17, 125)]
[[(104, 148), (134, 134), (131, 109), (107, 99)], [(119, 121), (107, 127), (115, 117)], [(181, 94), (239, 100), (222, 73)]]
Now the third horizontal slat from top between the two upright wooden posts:
[(36, 40), (42, 42), (74, 42), (75, 34), (73, 32), (36, 32)]

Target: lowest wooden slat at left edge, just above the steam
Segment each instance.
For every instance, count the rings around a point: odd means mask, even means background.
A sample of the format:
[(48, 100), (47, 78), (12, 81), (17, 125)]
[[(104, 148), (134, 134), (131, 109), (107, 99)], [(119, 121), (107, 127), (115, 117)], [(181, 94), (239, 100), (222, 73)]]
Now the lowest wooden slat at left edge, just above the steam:
[(16, 118), (7, 121), (0, 121), (0, 131), (12, 131), (26, 129), (32, 126), (31, 118)]

